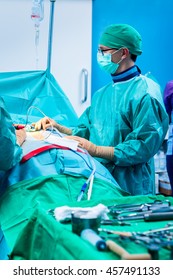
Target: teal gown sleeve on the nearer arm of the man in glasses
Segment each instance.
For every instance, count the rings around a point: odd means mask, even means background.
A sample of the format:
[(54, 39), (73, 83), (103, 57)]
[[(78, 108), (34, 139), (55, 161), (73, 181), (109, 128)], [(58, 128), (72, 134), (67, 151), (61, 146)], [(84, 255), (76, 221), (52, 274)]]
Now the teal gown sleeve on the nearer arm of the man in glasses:
[(114, 148), (114, 163), (131, 166), (147, 162), (159, 150), (168, 130), (164, 105), (146, 95), (131, 116), (131, 133)]

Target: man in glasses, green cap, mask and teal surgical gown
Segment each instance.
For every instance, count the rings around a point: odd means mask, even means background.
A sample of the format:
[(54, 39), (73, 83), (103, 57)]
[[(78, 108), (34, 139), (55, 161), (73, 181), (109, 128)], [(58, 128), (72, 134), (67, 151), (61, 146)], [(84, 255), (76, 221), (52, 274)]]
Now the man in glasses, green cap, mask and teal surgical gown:
[(108, 26), (99, 41), (97, 61), (112, 81), (94, 94), (76, 128), (48, 117), (35, 124), (36, 129), (52, 124), (71, 135), (131, 195), (155, 193), (153, 156), (168, 129), (160, 86), (136, 65), (141, 54), (142, 39), (135, 28)]

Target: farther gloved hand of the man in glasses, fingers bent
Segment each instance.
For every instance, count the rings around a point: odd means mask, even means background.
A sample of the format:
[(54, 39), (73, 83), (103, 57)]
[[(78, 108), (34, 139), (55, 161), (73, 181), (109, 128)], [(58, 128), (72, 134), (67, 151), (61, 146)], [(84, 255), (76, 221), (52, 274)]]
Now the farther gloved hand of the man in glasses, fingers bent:
[(44, 117), (41, 120), (39, 120), (36, 123), (32, 124), (35, 127), (35, 130), (40, 130), (40, 129), (44, 129), (46, 130), (47, 128), (53, 126), (55, 128), (57, 128), (59, 130), (59, 132), (67, 134), (67, 135), (71, 135), (72, 134), (72, 130), (66, 126), (60, 125), (57, 122), (55, 122), (53, 119), (49, 118), (49, 117)]

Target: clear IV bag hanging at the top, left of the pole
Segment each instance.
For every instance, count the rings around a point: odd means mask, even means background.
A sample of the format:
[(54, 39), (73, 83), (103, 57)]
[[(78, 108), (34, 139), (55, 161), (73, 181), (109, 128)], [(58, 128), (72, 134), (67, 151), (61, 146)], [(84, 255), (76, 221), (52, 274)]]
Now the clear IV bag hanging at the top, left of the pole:
[(39, 26), (40, 22), (44, 18), (44, 0), (33, 0), (32, 1), (32, 10), (31, 10), (31, 19), (35, 22), (35, 26)]

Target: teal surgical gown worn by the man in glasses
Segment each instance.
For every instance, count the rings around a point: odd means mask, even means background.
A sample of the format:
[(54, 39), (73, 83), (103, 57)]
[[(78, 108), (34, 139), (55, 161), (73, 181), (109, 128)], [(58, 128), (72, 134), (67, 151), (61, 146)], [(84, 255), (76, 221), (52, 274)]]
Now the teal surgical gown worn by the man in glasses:
[(114, 147), (114, 160), (99, 159), (131, 195), (154, 194), (153, 156), (168, 129), (160, 86), (139, 75), (98, 90), (73, 135)]

